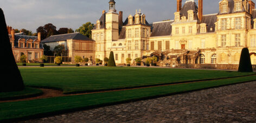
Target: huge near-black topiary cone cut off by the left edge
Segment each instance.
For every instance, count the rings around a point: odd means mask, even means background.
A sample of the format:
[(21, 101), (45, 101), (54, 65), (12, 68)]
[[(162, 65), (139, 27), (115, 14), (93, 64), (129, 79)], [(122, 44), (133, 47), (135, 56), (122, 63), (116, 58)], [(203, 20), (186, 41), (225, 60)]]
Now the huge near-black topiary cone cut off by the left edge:
[(4, 12), (0, 8), (0, 53), (2, 54), (1, 63), (1, 82), (0, 92), (14, 92), (24, 89), (20, 70), (12, 53), (10, 39), (5, 22)]

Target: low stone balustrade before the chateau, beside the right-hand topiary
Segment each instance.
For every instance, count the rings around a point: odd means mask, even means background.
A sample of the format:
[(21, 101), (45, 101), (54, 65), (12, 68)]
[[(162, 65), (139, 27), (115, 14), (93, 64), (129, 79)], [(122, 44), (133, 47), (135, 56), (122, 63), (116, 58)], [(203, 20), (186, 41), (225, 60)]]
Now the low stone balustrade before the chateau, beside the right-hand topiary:
[[(238, 69), (238, 64), (177, 64), (178, 68), (208, 68), (208, 69)], [(256, 65), (252, 65), (253, 70), (256, 70)]]

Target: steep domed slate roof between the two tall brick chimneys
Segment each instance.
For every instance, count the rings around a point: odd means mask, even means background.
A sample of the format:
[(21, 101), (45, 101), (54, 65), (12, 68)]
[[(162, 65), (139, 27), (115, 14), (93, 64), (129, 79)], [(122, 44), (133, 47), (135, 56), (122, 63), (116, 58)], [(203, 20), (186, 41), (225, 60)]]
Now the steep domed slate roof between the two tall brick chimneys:
[(197, 17), (198, 8), (194, 1), (186, 1), (185, 2), (185, 4), (183, 5), (183, 7), (180, 11), (181, 17), (185, 16), (188, 18), (188, 10), (193, 10), (194, 11), (194, 20), (198, 20), (198, 17)]

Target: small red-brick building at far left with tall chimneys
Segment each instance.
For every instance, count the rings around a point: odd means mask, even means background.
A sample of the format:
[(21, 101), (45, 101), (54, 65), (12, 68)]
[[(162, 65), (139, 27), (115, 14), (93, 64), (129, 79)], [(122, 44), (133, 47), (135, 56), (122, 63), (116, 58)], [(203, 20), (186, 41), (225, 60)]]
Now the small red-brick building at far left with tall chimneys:
[(16, 62), (20, 61), (22, 55), (27, 56), (27, 62), (40, 62), (40, 57), (43, 55), (40, 33), (38, 36), (27, 36), (22, 32), (15, 34), (14, 29), (9, 26), (7, 30)]

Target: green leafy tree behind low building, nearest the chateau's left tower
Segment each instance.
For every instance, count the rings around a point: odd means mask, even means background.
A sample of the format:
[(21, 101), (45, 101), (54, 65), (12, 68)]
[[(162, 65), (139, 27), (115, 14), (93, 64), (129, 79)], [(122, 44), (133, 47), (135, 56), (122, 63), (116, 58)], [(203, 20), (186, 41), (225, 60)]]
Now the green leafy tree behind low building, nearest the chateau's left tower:
[(87, 22), (85, 24), (82, 24), (79, 29), (76, 29), (75, 32), (78, 32), (84, 36), (87, 36), (89, 38), (92, 38), (92, 29), (94, 28), (94, 24), (91, 22)]

